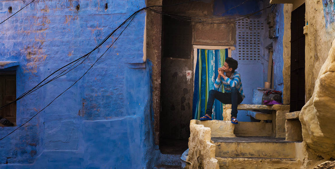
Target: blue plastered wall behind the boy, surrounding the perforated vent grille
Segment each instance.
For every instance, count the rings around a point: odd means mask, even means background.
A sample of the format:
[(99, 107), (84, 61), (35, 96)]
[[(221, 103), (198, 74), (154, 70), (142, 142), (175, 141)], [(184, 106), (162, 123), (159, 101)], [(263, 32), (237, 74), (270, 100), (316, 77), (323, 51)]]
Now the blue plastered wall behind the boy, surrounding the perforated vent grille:
[[(242, 4), (236, 8), (233, 8), (239, 4)], [(227, 11), (221, 16), (232, 17), (241, 16), (250, 13), (257, 12), (265, 7), (269, 6), (268, 1), (215, 1), (214, 2), (214, 14), (219, 14), (222, 11)], [(230, 9), (230, 10), (229, 10)], [(264, 87), (264, 82), (267, 81), (267, 70), (268, 70), (268, 58), (269, 52), (268, 47), (271, 44), (271, 40), (268, 38), (268, 25), (266, 24), (267, 15), (269, 10), (258, 12), (251, 16), (252, 19), (260, 19), (264, 23), (264, 30), (260, 31), (260, 60), (239, 60), (238, 50), (231, 51), (231, 57), (238, 61), (239, 65), (236, 69), (241, 74), (241, 80), (243, 84), (243, 91), (246, 98), (241, 104), (252, 104), (253, 101), (253, 89), (258, 87)], [(236, 39), (238, 39), (239, 32), (236, 31)], [(237, 40), (236, 40), (237, 41)], [(237, 42), (234, 45), (237, 47)], [(260, 98), (261, 99), (261, 98)], [(240, 110), (238, 112), (239, 121), (250, 121), (250, 117), (246, 115), (246, 111)]]

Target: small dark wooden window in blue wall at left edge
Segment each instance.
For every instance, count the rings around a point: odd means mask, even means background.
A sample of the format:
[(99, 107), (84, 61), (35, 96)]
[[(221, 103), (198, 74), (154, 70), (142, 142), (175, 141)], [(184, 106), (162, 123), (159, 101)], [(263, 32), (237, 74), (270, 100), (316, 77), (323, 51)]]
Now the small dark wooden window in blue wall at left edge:
[[(0, 106), (16, 99), (16, 71), (0, 71)], [(0, 110), (0, 117), (16, 125), (16, 102)], [(2, 126), (2, 124), (0, 124)]]

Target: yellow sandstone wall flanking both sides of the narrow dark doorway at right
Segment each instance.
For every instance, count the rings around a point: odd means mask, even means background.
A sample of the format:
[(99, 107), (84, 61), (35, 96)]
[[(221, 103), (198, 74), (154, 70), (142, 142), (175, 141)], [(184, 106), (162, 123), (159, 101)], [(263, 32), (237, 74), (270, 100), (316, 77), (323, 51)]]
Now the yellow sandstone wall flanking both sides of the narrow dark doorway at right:
[[(292, 4), (284, 4), (284, 37), (283, 37), (283, 102), (290, 102), (290, 59), (291, 59), (291, 12), (304, 1), (296, 0)], [(327, 59), (335, 31), (326, 30), (322, 1), (306, 0), (305, 21), (305, 94), (306, 101), (312, 97), (314, 84), (322, 64)]]

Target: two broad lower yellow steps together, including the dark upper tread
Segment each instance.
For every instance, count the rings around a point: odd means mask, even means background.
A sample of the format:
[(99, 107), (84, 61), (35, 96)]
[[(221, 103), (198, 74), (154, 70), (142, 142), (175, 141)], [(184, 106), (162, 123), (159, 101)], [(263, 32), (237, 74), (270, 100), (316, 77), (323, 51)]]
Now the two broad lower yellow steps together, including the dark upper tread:
[(296, 144), (275, 137), (212, 137), (215, 158), (220, 168), (228, 169), (294, 169), (299, 168)]

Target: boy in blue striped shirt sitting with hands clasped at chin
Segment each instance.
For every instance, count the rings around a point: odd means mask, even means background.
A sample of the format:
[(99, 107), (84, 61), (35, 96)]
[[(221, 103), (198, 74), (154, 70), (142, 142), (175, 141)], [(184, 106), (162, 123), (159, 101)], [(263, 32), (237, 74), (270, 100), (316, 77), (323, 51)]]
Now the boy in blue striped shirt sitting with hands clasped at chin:
[[(227, 58), (224, 66), (218, 69), (218, 76), (214, 83), (215, 90), (210, 90), (207, 101), (206, 115), (200, 120), (212, 120), (214, 100), (223, 104), (231, 104), (231, 123), (238, 124), (237, 105), (245, 98), (242, 88), (240, 73), (236, 72), (238, 62), (233, 58)], [(223, 83), (224, 93), (217, 91)]]

